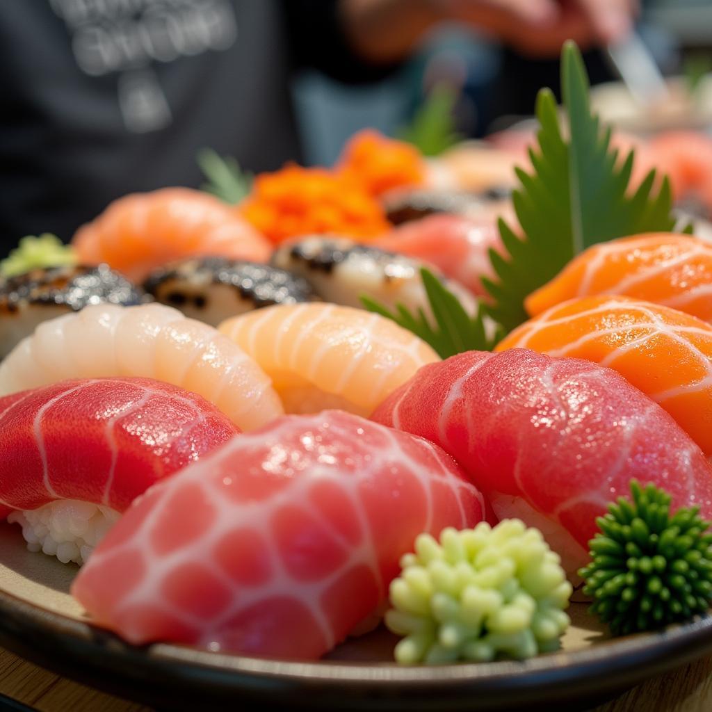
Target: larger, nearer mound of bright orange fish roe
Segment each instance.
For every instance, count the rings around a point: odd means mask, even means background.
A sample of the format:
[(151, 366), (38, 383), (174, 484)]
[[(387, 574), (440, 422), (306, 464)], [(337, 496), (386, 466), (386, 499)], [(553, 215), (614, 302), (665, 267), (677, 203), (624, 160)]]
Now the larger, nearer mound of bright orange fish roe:
[(360, 184), (327, 169), (294, 164), (258, 175), (238, 209), (276, 244), (324, 233), (370, 238), (391, 228), (381, 204)]

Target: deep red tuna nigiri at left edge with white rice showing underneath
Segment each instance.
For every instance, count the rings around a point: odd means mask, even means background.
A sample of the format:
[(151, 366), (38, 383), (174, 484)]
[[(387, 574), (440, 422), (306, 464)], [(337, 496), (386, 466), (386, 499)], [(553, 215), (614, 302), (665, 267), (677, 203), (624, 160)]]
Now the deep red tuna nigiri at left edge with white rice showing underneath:
[(199, 395), (146, 378), (63, 381), (0, 398), (0, 518), (29, 548), (83, 563), (152, 484), (239, 429)]

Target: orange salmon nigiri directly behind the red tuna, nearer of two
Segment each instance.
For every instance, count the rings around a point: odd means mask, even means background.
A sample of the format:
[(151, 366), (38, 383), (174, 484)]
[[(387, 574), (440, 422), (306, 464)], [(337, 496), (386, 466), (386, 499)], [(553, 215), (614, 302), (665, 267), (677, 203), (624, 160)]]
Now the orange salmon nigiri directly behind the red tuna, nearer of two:
[(703, 321), (627, 297), (572, 299), (515, 329), (497, 350), (517, 347), (616, 370), (712, 454), (712, 326)]

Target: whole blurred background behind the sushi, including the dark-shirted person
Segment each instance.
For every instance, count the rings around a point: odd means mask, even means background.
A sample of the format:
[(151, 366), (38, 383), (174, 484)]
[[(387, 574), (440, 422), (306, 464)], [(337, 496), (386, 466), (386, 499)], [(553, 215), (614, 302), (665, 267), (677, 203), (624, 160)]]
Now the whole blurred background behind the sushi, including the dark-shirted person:
[[(708, 132), (712, 0), (8, 0), (2, 251), (45, 231), (68, 242), (126, 194), (201, 187), (206, 148), (261, 174), (288, 162), (331, 167), (365, 127), (428, 158), (459, 140), (502, 138), (532, 115), (541, 87), (558, 93), (572, 36), (595, 109), (625, 141)], [(634, 100), (622, 64), (629, 80), (662, 90)], [(655, 66), (673, 78), (667, 89)], [(521, 157), (530, 137), (488, 145), (518, 142)], [(698, 139), (679, 155), (699, 156)], [(463, 156), (474, 171), (504, 160)], [(649, 164), (673, 170), (659, 157)]]

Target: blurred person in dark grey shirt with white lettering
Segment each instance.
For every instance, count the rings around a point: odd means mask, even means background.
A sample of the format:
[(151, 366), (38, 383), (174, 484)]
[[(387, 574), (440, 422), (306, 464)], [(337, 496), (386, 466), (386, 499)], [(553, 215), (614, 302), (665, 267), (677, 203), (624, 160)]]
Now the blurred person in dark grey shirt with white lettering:
[(68, 241), (128, 192), (201, 182), (202, 147), (251, 171), (300, 159), (290, 78), (381, 78), (444, 21), (528, 56), (624, 36), (634, 0), (5, 0), (2, 252)]

